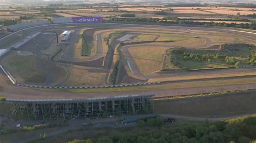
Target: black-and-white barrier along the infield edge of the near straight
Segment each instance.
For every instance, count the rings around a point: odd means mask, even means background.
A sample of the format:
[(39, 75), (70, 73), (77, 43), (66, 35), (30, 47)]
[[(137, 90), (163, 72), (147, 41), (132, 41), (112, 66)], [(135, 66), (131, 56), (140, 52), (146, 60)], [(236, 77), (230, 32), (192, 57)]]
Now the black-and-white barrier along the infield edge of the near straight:
[(105, 85), (105, 86), (44, 86), (44, 85), (30, 85), (30, 84), (19, 84), (15, 83), (14, 85), (18, 87), (29, 87), (29, 88), (45, 88), (45, 89), (90, 89), (90, 88), (120, 88), (120, 87), (136, 87), (142, 85), (154, 85), (161, 84), (164, 82), (146, 82), (146, 83), (133, 83), (133, 84), (118, 84), (118, 85)]

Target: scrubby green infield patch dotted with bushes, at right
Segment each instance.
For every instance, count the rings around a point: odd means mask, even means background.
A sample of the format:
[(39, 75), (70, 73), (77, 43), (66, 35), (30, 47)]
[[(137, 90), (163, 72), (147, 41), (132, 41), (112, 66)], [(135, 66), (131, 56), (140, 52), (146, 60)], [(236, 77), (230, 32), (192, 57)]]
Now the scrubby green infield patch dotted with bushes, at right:
[[(164, 70), (224, 68), (254, 64), (248, 60), (256, 46), (248, 44), (226, 45), (221, 50), (209, 49), (168, 49)], [(255, 56), (255, 55), (254, 55)], [(254, 58), (255, 59), (255, 58)]]

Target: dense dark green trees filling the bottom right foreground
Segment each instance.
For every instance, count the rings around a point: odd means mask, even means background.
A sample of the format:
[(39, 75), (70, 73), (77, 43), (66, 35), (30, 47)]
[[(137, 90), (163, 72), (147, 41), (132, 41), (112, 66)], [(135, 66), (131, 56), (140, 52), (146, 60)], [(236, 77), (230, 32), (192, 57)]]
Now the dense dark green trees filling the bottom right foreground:
[[(158, 122), (159, 123), (159, 122)], [(145, 125), (146, 126), (146, 125)], [(141, 126), (143, 127), (143, 126)], [(226, 121), (186, 124), (143, 133), (74, 140), (80, 142), (256, 142), (256, 116), (245, 116)]]

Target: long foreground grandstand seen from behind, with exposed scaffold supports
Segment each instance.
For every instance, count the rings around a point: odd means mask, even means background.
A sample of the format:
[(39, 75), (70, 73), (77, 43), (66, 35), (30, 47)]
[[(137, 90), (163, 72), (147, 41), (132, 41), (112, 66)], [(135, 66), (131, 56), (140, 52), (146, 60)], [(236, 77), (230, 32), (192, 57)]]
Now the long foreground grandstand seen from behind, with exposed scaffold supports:
[(32, 120), (86, 119), (153, 113), (155, 94), (86, 99), (8, 99), (12, 117)]

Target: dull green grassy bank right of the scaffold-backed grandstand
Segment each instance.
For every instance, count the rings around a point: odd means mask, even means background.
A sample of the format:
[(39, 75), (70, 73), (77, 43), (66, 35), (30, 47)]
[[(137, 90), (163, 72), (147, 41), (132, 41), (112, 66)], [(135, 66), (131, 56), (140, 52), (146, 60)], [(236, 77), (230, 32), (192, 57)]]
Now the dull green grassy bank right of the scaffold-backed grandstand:
[(256, 112), (255, 92), (206, 98), (181, 98), (156, 101), (157, 113), (188, 117), (220, 118)]

